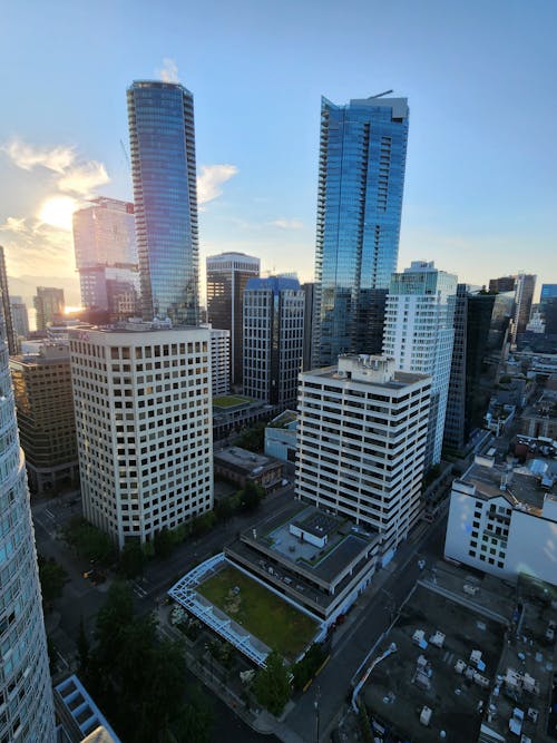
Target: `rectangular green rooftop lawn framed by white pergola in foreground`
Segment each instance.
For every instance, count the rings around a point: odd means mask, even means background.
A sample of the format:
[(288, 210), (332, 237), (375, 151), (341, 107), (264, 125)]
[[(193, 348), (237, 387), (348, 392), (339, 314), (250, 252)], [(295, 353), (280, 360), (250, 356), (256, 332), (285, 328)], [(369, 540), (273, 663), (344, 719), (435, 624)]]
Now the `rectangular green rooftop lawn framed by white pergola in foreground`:
[[(234, 593), (236, 586), (237, 594)], [(222, 569), (197, 590), (291, 662), (311, 643), (317, 629), (309, 616), (233, 567)]]

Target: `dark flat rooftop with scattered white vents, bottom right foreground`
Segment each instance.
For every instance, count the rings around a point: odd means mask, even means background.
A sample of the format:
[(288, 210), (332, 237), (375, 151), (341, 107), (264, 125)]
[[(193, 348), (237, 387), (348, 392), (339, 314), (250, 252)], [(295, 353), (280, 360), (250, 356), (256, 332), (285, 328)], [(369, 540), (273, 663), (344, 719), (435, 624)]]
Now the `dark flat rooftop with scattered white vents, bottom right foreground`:
[[(414, 644), (416, 630), (424, 633), (427, 648)], [(446, 635), (442, 647), (429, 643), (438, 630)], [(401, 740), (433, 743), (444, 731), (451, 743), (477, 741), (489, 688), (457, 673), (455, 666), (457, 661), (468, 664), (471, 652), (480, 651), (486, 666), (482, 675), (491, 681), (504, 642), (498, 622), (418, 585), (377, 656), (391, 643), (397, 652), (374, 667), (360, 693), (370, 720), (387, 725)], [(427, 664), (423, 676), (418, 675), (420, 657)], [(423, 707), (431, 710), (428, 726), (420, 722)]]

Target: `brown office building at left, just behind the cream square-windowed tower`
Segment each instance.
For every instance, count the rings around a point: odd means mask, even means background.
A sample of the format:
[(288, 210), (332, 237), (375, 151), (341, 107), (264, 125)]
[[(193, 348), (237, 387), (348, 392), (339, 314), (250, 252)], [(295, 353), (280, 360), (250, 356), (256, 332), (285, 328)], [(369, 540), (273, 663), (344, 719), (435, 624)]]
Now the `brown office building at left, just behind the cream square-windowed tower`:
[(69, 345), (43, 342), (36, 354), (10, 359), (21, 447), (31, 492), (77, 485), (76, 421)]

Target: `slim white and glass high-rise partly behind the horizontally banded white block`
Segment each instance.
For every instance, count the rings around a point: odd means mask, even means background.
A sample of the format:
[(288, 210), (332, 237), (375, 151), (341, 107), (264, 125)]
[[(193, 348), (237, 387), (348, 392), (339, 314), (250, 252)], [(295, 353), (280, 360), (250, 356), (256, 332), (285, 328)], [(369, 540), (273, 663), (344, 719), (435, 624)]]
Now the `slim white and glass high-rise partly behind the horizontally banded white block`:
[(431, 377), (426, 470), (441, 459), (455, 340), (457, 276), (413, 261), (394, 273), (387, 296), (383, 353), (397, 369)]

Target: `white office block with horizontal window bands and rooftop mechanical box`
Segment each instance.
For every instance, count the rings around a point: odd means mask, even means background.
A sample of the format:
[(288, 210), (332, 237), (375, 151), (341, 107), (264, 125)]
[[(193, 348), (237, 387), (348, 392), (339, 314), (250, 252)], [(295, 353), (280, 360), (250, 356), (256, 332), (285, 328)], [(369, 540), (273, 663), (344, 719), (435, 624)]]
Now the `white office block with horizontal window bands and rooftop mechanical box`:
[(296, 496), (381, 536), (385, 565), (419, 517), (431, 380), (385, 356), (300, 374)]

